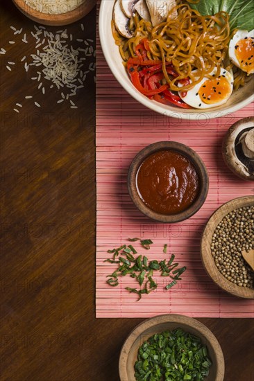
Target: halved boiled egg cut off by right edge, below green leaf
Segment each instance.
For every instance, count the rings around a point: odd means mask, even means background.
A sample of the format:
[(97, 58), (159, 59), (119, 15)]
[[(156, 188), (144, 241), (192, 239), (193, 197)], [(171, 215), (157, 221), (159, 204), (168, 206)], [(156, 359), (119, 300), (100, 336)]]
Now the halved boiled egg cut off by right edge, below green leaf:
[(230, 40), (228, 55), (235, 66), (246, 71), (254, 73), (254, 29), (237, 30), (234, 37)]

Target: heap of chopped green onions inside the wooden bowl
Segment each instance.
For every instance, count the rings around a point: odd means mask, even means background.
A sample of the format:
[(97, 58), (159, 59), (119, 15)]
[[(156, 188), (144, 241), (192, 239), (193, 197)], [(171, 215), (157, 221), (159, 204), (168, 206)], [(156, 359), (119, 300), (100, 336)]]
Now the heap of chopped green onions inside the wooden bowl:
[(136, 381), (203, 381), (212, 362), (199, 337), (181, 328), (155, 333), (139, 347)]

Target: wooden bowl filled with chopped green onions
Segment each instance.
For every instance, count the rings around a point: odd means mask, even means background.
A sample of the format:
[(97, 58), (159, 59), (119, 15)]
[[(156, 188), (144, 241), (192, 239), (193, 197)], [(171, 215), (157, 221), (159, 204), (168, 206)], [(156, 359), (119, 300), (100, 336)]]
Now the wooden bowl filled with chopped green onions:
[[(170, 331), (170, 334), (165, 334), (165, 331)], [(153, 341), (152, 337), (155, 334), (158, 335)], [(150, 343), (146, 344), (148, 340)], [(198, 362), (206, 364), (198, 369)], [(167, 364), (164, 368), (163, 363)], [(224, 357), (216, 337), (200, 321), (180, 314), (152, 317), (143, 321), (130, 333), (121, 348), (120, 380), (146, 380), (147, 373), (152, 372), (155, 364), (160, 367), (162, 375), (164, 369), (178, 373), (176, 380), (193, 380), (194, 372), (201, 373), (200, 380), (204, 381), (223, 381), (224, 378)], [(187, 370), (186, 364), (192, 364), (194, 369)], [(205, 368), (209, 369), (208, 375), (202, 375)], [(143, 371), (144, 374), (138, 378), (137, 375)]]

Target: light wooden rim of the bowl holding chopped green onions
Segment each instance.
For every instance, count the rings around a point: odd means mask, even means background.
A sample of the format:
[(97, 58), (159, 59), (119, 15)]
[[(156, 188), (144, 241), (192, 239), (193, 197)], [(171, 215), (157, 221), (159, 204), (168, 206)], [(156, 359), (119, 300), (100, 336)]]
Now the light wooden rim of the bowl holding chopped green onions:
[[(133, 346), (133, 343), (139, 337), (139, 335), (142, 335), (145, 330), (148, 330), (149, 328), (153, 326), (158, 326), (160, 324), (167, 324), (167, 323), (178, 323), (178, 324), (184, 324), (186, 326), (192, 327), (192, 329), (198, 331), (198, 337), (205, 339), (210, 343), (210, 346), (212, 347), (212, 350), (214, 352), (215, 357), (215, 366), (216, 366), (216, 378), (214, 381), (223, 381), (224, 373), (225, 373), (225, 361), (223, 352), (221, 349), (221, 346), (217, 340), (217, 338), (214, 336), (212, 331), (205, 326), (205, 324), (201, 323), (201, 321), (198, 321), (194, 319), (193, 317), (187, 317), (183, 314), (160, 314), (155, 317), (150, 317), (149, 319), (146, 319), (139, 323), (133, 330), (129, 333), (128, 337), (124, 341), (123, 346), (121, 347), (121, 353), (119, 356), (119, 376), (121, 381), (133, 381), (128, 380), (128, 374), (127, 374), (127, 357), (126, 353), (129, 353), (130, 348)], [(184, 329), (184, 328), (183, 328)], [(187, 330), (187, 328), (186, 328)], [(152, 335), (152, 334), (151, 334)]]

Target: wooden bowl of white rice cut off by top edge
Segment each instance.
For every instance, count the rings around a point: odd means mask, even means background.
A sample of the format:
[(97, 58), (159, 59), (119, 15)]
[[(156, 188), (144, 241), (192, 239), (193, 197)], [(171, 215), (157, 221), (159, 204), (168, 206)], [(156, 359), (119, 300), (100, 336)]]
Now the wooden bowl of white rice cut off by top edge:
[[(82, 3), (78, 0), (71, 0), (72, 6), (68, 7), (66, 2), (56, 0), (56, 8), (46, 8), (48, 12), (44, 12), (44, 6), (49, 2), (46, 0), (12, 0), (15, 6), (29, 19), (33, 21), (51, 26), (63, 26), (72, 24), (82, 19), (87, 13), (94, 8), (96, 0), (84, 0)], [(77, 3), (74, 8), (74, 3)], [(34, 6), (33, 6), (34, 5)], [(51, 7), (51, 6), (48, 6)]]

